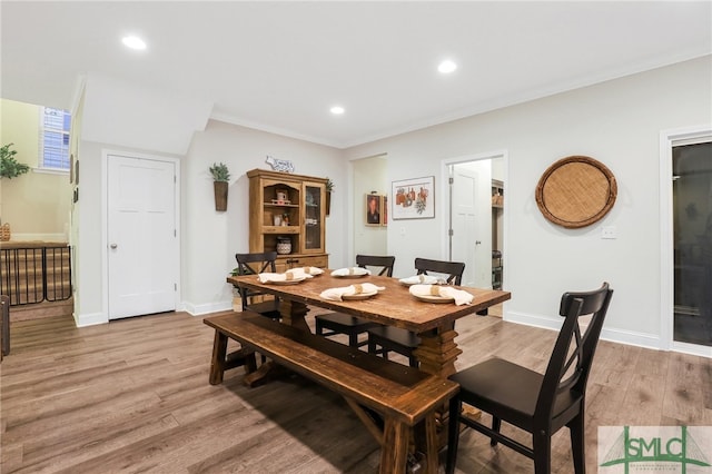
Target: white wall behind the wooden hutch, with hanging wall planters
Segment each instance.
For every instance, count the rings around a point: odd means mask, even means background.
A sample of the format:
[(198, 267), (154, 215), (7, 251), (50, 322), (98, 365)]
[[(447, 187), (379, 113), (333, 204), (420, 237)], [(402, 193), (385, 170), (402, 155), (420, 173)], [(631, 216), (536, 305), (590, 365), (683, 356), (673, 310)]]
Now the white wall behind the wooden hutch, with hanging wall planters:
[[(270, 169), (267, 155), (291, 160), (299, 175), (329, 177), (335, 184), (326, 219), (329, 266), (347, 263), (346, 166), (343, 151), (279, 135), (210, 120), (195, 135), (182, 167), (182, 298), (192, 314), (231, 307), (231, 286), (225, 282), (235, 268), (235, 254), (249, 250), (248, 189), (245, 175)], [(227, 211), (215, 210), (208, 167), (225, 162), (230, 170)]]

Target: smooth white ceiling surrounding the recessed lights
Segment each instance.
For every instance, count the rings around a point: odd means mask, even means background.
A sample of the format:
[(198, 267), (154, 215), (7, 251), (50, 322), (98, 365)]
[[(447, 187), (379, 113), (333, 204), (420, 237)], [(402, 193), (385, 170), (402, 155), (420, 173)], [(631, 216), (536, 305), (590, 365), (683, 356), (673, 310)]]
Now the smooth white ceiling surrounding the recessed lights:
[(6, 99), (69, 109), (96, 72), (339, 148), (712, 52), (711, 1), (0, 4)]

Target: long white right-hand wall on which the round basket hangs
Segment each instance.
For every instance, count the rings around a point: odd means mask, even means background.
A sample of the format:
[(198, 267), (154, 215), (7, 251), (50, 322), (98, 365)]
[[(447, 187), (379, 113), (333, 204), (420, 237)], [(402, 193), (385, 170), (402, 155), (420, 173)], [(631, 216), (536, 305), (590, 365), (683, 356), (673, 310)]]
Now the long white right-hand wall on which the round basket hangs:
[[(659, 137), (712, 122), (711, 65), (708, 56), (354, 147), (346, 157), (387, 152), (388, 180), (435, 175), (441, 182), (443, 159), (506, 150), (505, 317), (553, 327), (563, 292), (607, 280), (615, 294), (604, 336), (662, 346)], [(542, 172), (570, 155), (602, 161), (619, 185), (611, 213), (582, 229), (548, 223), (534, 199)], [(394, 275), (407, 274), (416, 256), (444, 257), (443, 219), (388, 226)], [(617, 239), (601, 239), (602, 226), (615, 226)]]

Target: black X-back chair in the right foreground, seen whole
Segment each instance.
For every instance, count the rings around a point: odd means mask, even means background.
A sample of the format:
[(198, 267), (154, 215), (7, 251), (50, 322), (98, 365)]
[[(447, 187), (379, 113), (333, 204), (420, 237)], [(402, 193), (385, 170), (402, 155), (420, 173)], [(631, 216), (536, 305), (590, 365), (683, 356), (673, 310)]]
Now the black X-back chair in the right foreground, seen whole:
[[(558, 314), (564, 322), (543, 375), (491, 358), (449, 377), (461, 388), (449, 403), (446, 473), (455, 472), (461, 423), (490, 436), (492, 446), (502, 443), (534, 460), (536, 474), (551, 472), (551, 437), (567, 426), (574, 470), (584, 473), (586, 382), (612, 295), (613, 290), (604, 283), (596, 290), (562, 296)], [(589, 315), (592, 317), (582, 335), (578, 318)], [(463, 403), (490, 413), (492, 428), (462, 416)], [(503, 435), (500, 432), (503, 421), (528, 432), (532, 447)]]

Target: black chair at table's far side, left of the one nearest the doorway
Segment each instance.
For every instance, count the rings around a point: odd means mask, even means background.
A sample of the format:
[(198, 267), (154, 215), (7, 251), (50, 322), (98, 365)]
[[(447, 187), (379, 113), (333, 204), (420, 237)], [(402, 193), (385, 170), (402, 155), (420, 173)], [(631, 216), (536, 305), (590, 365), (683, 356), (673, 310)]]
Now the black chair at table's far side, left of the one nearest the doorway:
[[(393, 276), (393, 266), (396, 263), (396, 257), (393, 256), (378, 256), (378, 255), (357, 255), (356, 265), (362, 268), (379, 267), (378, 275)], [(316, 334), (325, 337), (334, 336), (337, 334), (348, 335), (348, 345), (352, 347), (360, 347), (368, 344), (367, 340), (358, 342), (358, 336), (372, 327), (379, 326), (378, 323), (374, 323), (368, 319), (359, 318), (356, 316), (346, 315), (343, 313), (328, 313), (318, 315), (316, 319)], [(324, 330), (327, 329), (325, 333)]]

